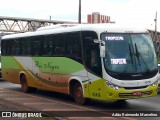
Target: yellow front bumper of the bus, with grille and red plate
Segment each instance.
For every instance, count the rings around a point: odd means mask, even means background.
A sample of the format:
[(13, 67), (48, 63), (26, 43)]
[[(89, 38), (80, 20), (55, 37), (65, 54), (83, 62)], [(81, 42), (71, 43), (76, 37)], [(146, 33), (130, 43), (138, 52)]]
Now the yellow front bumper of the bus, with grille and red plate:
[(92, 86), (90, 95), (86, 96), (87, 98), (89, 97), (98, 100), (127, 100), (155, 96), (158, 92), (158, 84), (138, 89), (113, 89), (106, 85), (99, 88), (97, 86), (98, 85)]

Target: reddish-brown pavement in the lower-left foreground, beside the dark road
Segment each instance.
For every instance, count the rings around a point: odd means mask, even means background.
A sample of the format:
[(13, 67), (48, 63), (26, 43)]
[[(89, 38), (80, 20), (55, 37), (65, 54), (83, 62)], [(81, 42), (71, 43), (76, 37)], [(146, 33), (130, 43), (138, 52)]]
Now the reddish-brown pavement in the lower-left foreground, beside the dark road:
[[(81, 118), (76, 117), (76, 119), (74, 117), (71, 117), (72, 115), (77, 113), (76, 111), (92, 111), (92, 110), (81, 106), (75, 106), (60, 101), (48, 100), (45, 98), (0, 88), (0, 120), (68, 119), (66, 117), (57, 117), (59, 113), (63, 115), (66, 114), (69, 115), (70, 120), (84, 119), (82, 117)], [(93, 111), (91, 113), (93, 113)], [(113, 119), (113, 117), (110, 118)], [(93, 119), (93, 117), (91, 117), (90, 119), (94, 120), (95, 118)]]

